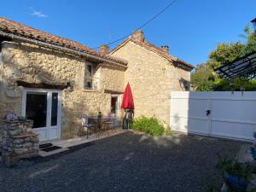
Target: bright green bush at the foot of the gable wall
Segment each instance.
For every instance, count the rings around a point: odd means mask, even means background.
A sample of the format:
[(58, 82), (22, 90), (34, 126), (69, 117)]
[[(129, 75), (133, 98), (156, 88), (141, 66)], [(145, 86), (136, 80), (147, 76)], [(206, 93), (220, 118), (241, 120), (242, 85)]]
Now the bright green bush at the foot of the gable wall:
[(135, 131), (143, 131), (150, 136), (162, 136), (165, 131), (164, 125), (158, 119), (147, 117), (134, 119), (131, 128)]

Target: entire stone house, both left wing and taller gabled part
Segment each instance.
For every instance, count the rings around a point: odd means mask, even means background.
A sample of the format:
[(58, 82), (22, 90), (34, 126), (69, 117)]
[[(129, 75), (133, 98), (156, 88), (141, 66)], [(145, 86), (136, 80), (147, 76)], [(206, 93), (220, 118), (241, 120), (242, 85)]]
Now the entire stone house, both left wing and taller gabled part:
[(170, 91), (189, 90), (188, 63), (134, 32), (109, 53), (0, 18), (0, 118), (33, 119), (41, 141), (79, 135), (82, 114), (115, 113), (130, 82), (136, 116), (169, 124)]

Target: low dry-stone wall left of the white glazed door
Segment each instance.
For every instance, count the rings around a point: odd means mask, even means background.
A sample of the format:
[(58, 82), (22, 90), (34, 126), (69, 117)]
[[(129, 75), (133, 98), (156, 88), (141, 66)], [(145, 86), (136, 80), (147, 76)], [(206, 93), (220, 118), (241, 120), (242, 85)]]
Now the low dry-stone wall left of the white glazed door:
[(32, 132), (32, 124), (32, 120), (0, 120), (0, 152), (4, 164), (38, 155), (39, 140)]

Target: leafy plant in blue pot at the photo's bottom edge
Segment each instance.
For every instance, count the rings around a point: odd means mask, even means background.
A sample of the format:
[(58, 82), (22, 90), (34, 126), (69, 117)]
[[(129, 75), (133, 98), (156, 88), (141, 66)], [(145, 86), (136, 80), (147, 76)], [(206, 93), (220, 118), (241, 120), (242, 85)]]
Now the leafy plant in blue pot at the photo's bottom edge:
[(252, 168), (236, 160), (218, 160), (218, 169), (222, 172), (224, 183), (234, 192), (246, 191)]

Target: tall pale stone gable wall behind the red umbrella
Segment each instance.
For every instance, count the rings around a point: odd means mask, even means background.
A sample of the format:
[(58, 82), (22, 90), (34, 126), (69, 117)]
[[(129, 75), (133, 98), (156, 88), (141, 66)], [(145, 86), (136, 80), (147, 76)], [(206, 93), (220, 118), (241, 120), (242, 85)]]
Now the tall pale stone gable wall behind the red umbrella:
[(185, 90), (190, 72), (131, 41), (113, 52), (113, 56), (128, 61), (125, 84), (131, 84), (135, 116), (155, 116), (169, 125), (170, 92)]

